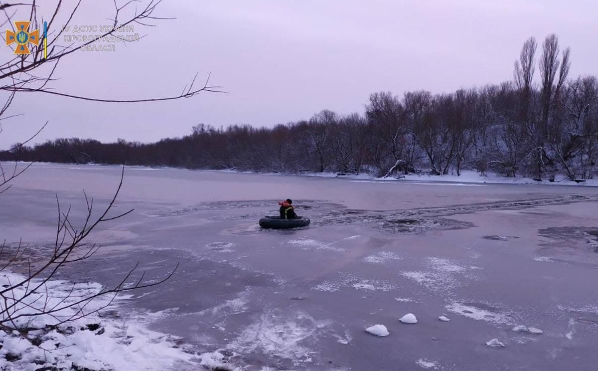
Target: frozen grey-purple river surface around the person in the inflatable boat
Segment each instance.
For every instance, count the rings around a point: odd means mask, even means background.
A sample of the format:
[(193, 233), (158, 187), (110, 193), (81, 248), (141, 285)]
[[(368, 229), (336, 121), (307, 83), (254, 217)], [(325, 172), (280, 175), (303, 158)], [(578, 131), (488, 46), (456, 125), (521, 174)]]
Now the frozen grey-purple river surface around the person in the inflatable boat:
[[(57, 194), (105, 204), (120, 168), (35, 165), (2, 194), (8, 242), (54, 239)], [(260, 230), (295, 200), (310, 227)], [(246, 370), (595, 370), (598, 188), (127, 168), (105, 248), (64, 274), (165, 284), (135, 310)], [(115, 211), (115, 212), (116, 212)], [(407, 313), (417, 324), (398, 320)], [(439, 321), (445, 315), (449, 322)], [(383, 324), (388, 337), (365, 332)], [(515, 332), (524, 325), (542, 334)], [(498, 339), (503, 348), (486, 342)]]

